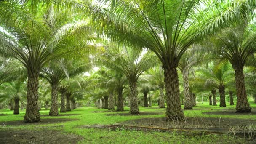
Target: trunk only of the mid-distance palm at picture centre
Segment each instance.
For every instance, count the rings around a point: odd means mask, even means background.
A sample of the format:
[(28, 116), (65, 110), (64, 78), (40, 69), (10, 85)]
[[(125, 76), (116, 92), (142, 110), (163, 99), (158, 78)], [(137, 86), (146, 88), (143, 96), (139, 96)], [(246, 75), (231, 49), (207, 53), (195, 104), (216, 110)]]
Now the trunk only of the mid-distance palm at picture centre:
[(130, 83), (130, 114), (139, 114), (137, 95), (138, 91), (136, 83)]

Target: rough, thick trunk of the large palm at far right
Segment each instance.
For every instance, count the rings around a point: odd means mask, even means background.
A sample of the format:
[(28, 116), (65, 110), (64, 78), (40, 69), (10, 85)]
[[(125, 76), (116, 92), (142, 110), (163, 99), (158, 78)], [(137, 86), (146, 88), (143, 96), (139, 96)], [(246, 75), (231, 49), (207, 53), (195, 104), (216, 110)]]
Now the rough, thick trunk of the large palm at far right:
[(237, 90), (236, 112), (251, 112), (251, 107), (249, 105), (245, 89), (243, 67), (233, 66), (233, 68), (235, 69), (235, 84)]

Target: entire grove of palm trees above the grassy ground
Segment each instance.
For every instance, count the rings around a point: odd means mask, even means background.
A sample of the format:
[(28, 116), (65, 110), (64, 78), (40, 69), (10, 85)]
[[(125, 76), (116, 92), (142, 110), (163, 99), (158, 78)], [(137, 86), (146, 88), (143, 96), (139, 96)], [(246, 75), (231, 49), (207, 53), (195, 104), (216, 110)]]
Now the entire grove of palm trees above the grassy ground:
[[(0, 0), (0, 109), (77, 107), (167, 121), (256, 103), (255, 0)], [(0, 120), (1, 121), (1, 120)]]

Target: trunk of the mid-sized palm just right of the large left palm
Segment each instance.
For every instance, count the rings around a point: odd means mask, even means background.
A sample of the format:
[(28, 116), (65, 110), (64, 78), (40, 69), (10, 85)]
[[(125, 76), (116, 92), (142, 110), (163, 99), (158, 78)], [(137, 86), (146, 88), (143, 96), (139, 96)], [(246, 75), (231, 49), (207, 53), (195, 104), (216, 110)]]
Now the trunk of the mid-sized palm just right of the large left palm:
[(51, 108), (49, 115), (57, 116), (59, 115), (58, 111), (58, 86), (52, 85), (51, 86)]

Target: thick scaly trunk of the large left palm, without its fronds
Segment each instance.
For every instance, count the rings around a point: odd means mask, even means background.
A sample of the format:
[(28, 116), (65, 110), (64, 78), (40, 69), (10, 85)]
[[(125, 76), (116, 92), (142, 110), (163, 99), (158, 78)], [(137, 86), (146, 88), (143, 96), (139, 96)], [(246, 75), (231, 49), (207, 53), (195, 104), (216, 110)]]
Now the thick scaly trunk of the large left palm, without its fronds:
[(27, 108), (24, 116), (25, 122), (40, 121), (40, 112), (38, 110), (38, 73), (28, 74), (27, 79)]

